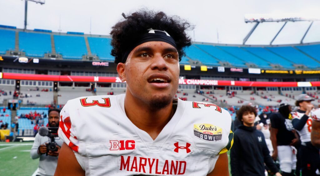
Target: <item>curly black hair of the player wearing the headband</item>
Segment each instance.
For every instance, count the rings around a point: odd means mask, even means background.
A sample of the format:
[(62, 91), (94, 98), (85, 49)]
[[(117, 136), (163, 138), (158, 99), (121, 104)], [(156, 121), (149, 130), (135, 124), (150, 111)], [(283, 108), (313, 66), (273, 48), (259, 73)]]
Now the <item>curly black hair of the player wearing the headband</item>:
[(139, 39), (149, 28), (165, 30), (177, 44), (179, 61), (185, 55), (183, 48), (191, 45), (191, 38), (187, 30), (194, 29), (186, 20), (178, 16), (168, 16), (164, 12), (148, 11), (141, 9), (131, 15), (122, 13), (124, 20), (112, 27), (111, 55), (115, 57), (115, 63), (122, 62), (123, 54), (129, 50), (133, 42)]

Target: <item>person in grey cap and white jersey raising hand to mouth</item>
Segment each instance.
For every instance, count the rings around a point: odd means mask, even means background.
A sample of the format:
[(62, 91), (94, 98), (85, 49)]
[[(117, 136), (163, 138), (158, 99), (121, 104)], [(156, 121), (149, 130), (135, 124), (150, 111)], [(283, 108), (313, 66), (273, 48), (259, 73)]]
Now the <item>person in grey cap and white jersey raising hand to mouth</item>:
[(292, 125), (299, 133), (301, 140), (298, 154), (302, 176), (317, 175), (316, 171), (320, 163), (319, 149), (311, 143), (312, 118), (310, 112), (314, 108), (314, 105), (311, 104), (313, 100), (307, 94), (300, 94), (295, 103), (296, 106), (299, 106), (299, 110), (291, 113)]

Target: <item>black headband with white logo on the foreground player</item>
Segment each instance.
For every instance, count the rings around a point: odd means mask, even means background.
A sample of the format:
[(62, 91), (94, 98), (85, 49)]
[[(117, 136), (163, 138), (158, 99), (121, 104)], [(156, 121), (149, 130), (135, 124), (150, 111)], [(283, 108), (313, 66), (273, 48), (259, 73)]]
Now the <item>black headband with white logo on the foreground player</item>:
[(164, 30), (155, 30), (155, 29), (148, 29), (148, 32), (141, 35), (139, 39), (134, 42), (130, 47), (127, 48), (126, 52), (122, 56), (122, 63), (125, 63), (127, 60), (130, 52), (137, 47), (140, 44), (146, 43), (146, 42), (166, 42), (168, 44), (171, 44), (173, 47), (177, 48), (176, 42), (173, 40), (173, 38)]

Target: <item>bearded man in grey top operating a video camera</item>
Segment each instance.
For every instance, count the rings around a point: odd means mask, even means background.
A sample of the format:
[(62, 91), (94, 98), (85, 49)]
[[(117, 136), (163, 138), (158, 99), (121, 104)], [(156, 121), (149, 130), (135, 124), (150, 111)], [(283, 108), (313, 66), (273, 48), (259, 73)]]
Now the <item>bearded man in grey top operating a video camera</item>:
[[(59, 109), (50, 109), (48, 111), (48, 124), (49, 127), (58, 127), (59, 126)], [(63, 141), (57, 137), (55, 142), (57, 143), (58, 151), (47, 152), (47, 147), (45, 143), (48, 142), (47, 136), (36, 135), (35, 141), (30, 151), (30, 156), (32, 159), (37, 159), (40, 157), (39, 161), (39, 171), (37, 175), (54, 175), (55, 169), (58, 163), (58, 156), (60, 153), (60, 146), (63, 144)], [(46, 155), (48, 153), (48, 155)]]

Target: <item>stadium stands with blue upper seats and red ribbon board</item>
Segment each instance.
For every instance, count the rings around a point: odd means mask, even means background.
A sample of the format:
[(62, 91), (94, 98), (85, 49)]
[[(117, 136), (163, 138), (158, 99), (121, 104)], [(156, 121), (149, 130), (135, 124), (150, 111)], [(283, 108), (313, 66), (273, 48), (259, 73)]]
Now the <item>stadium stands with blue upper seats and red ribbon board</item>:
[[(0, 39), (0, 124), (8, 131), (1, 140), (32, 140), (37, 129), (47, 125), (48, 109), (61, 109), (70, 99), (126, 91), (110, 55), (110, 36), (0, 25)], [(301, 93), (313, 97), (318, 107), (319, 75), (320, 42), (194, 42), (180, 62), (181, 84), (175, 97), (216, 104), (227, 109), (234, 120), (237, 109), (248, 101), (257, 107), (258, 115), (269, 115), (277, 112), (283, 101), (294, 105)], [(0, 143), (0, 165), (11, 166), (1, 162), (3, 157), (21, 163), (28, 160), (23, 151), (30, 147), (26, 142)], [(0, 172), (30, 175), (36, 164), (35, 160), (29, 163), (31, 170)]]

